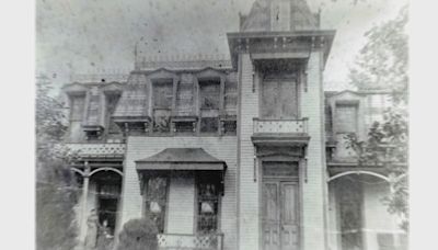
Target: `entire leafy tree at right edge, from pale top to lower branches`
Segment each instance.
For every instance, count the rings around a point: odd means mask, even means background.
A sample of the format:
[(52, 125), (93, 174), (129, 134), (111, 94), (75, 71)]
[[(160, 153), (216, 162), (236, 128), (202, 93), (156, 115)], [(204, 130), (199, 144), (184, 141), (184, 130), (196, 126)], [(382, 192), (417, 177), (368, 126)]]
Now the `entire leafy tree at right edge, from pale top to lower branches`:
[(401, 227), (408, 229), (408, 57), (407, 7), (396, 19), (374, 26), (366, 33), (367, 44), (350, 69), (350, 82), (361, 90), (389, 90), (393, 105), (374, 122), (365, 140), (348, 136), (348, 147), (357, 152), (361, 166), (380, 166), (390, 177), (391, 194), (383, 203), (388, 211), (399, 215)]

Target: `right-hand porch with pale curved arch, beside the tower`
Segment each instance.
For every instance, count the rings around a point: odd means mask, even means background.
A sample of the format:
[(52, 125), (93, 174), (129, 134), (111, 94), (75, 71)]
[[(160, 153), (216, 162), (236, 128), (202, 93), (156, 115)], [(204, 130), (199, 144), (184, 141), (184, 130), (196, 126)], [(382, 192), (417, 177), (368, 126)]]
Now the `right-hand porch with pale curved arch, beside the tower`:
[(401, 219), (384, 198), (394, 178), (383, 168), (328, 164), (328, 247), (339, 250), (405, 250)]

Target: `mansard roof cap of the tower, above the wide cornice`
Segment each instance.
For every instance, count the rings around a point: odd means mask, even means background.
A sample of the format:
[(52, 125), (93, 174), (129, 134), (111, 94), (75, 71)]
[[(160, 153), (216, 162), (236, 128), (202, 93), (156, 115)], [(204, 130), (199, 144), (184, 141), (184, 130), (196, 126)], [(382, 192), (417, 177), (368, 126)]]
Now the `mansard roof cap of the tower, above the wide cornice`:
[(318, 29), (319, 16), (306, 0), (255, 0), (250, 14), (241, 15), (241, 32)]

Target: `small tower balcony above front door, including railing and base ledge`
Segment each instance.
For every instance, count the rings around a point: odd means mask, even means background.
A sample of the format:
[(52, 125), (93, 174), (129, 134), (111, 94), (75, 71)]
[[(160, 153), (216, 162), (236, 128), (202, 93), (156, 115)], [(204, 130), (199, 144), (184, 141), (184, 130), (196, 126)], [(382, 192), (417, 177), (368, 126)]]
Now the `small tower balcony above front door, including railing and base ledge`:
[(306, 145), (309, 141), (308, 118), (261, 120), (253, 118), (254, 144)]

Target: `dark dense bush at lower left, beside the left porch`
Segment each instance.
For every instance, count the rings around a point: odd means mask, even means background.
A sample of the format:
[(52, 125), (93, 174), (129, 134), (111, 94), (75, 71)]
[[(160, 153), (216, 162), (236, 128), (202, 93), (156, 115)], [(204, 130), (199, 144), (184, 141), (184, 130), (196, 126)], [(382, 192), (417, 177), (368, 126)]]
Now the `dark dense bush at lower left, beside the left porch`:
[(78, 227), (73, 209), (77, 189), (71, 171), (61, 161), (37, 163), (36, 249), (72, 250)]

